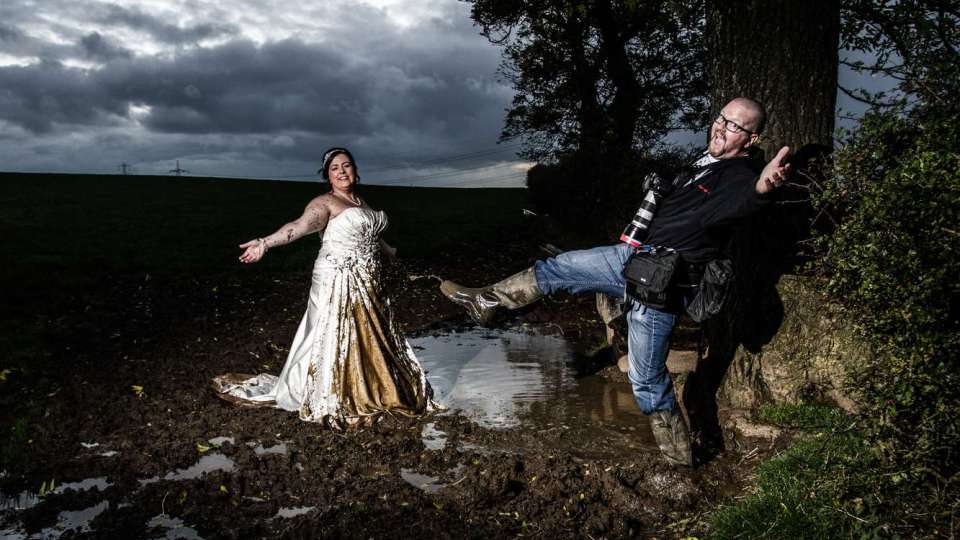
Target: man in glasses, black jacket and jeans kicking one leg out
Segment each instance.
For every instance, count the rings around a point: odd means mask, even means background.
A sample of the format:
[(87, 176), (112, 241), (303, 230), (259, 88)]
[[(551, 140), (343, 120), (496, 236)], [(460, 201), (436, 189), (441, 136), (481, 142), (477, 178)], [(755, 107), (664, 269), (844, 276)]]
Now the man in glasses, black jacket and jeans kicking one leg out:
[[(693, 171), (676, 179), (674, 189), (660, 202), (646, 245), (675, 250), (691, 267), (720, 257), (731, 225), (760, 209), (789, 173), (790, 166), (784, 163), (787, 147), (762, 171), (749, 158), (765, 119), (763, 107), (748, 98), (734, 99), (721, 109), (710, 127), (707, 151), (694, 163)], [(622, 298), (623, 267), (633, 252), (627, 244), (568, 251), (487, 287), (467, 288), (444, 281), (440, 290), (480, 324), (489, 322), (498, 307), (517, 309), (558, 290)], [(677, 316), (675, 308), (632, 303), (627, 312), (627, 373), (637, 405), (651, 416), (650, 426), (663, 456), (670, 463), (691, 466), (690, 436), (666, 368)]]

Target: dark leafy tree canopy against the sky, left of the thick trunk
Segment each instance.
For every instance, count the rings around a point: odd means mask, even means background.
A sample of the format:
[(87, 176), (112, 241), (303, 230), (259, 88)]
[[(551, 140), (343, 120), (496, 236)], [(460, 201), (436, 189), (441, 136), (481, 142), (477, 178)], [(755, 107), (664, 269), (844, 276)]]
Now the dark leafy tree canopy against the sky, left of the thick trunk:
[(616, 159), (706, 120), (702, 2), (469, 2), (503, 47), (515, 90), (503, 137), (522, 137), (527, 157)]

